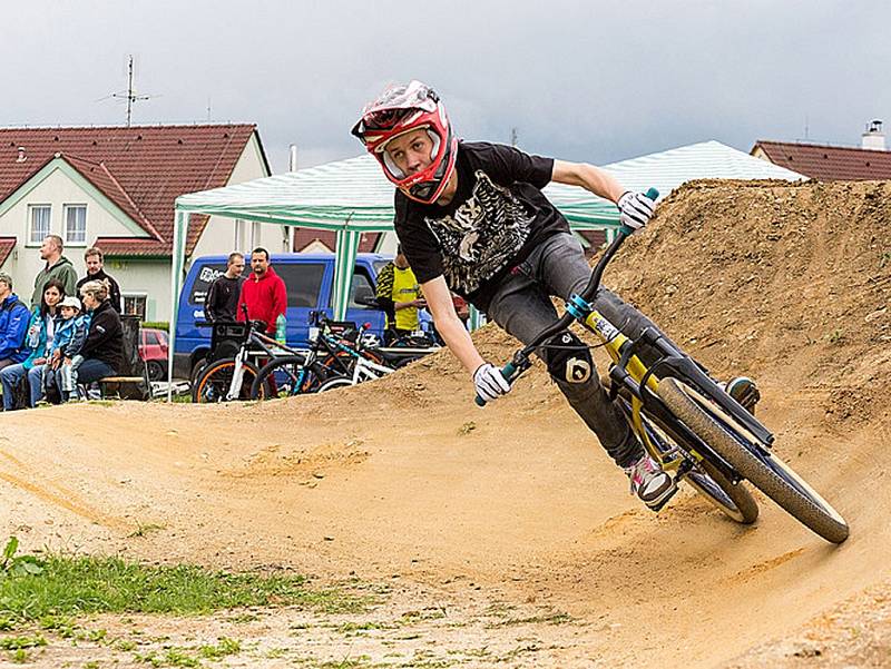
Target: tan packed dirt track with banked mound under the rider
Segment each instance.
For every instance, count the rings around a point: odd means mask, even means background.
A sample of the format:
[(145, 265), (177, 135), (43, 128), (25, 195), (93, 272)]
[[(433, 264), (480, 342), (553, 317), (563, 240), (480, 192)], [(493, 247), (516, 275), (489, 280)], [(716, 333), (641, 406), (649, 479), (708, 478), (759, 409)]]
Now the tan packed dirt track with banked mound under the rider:
[[(479, 410), (446, 352), (295, 400), (2, 415), (0, 534), (384, 593), (364, 618), (126, 623), (252, 639), (227, 666), (891, 666), (890, 203), (889, 183), (697, 181), (605, 278), (713, 375), (760, 381), (776, 451), (851, 524), (840, 547), (757, 494), (752, 527), (692, 492), (654, 514), (540, 365)], [(92, 657), (145, 666), (35, 660)]]

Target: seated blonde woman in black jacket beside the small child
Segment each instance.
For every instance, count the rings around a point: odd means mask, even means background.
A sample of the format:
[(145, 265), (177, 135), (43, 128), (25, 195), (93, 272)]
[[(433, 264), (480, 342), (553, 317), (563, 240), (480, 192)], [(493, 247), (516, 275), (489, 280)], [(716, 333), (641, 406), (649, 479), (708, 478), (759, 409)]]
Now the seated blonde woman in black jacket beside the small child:
[(85, 311), (90, 314), (90, 326), (80, 348), (84, 362), (78, 368), (78, 383), (88, 385), (118, 373), (124, 363), (124, 328), (108, 299), (105, 282), (87, 282), (80, 287), (80, 296)]

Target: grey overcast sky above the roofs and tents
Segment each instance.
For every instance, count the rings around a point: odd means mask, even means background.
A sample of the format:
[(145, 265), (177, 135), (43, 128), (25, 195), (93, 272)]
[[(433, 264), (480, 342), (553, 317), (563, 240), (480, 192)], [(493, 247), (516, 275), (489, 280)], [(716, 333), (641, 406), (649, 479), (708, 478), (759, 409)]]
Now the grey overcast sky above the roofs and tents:
[(858, 145), (891, 129), (888, 3), (0, 0), (0, 125), (253, 122), (273, 171), (361, 153), (386, 82), (442, 95), (460, 137), (606, 164), (717, 139)]

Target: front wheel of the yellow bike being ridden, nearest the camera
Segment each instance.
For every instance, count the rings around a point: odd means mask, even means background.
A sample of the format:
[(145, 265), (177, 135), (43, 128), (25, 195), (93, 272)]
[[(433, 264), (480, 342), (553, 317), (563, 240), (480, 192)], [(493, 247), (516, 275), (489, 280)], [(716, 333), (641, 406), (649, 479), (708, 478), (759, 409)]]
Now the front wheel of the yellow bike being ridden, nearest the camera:
[(799, 522), (832, 543), (848, 539), (850, 530), (839, 512), (775, 453), (750, 445), (719, 406), (676, 378), (660, 381), (658, 395), (687, 427)]

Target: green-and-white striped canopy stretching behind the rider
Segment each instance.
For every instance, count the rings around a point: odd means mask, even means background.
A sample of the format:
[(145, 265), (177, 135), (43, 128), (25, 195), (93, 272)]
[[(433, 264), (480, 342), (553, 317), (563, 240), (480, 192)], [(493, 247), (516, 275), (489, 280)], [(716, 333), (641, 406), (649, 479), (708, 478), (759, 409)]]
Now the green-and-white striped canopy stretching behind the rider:
[[(717, 141), (704, 141), (604, 166), (634, 190), (655, 187), (664, 196), (697, 178), (804, 178), (794, 171), (753, 158)], [(587, 190), (550, 184), (548, 198), (575, 230), (619, 227), (615, 205)], [(336, 233), (334, 317), (343, 318), (362, 233), (393, 229), (393, 185), (369, 155), (329, 163), (244, 184), (182, 195), (176, 199), (170, 268), (170, 350), (183, 285), (189, 216), (206, 214), (232, 219), (276, 223)], [(173, 367), (173, 356), (170, 356)], [(173, 370), (170, 368), (170, 372)]]

